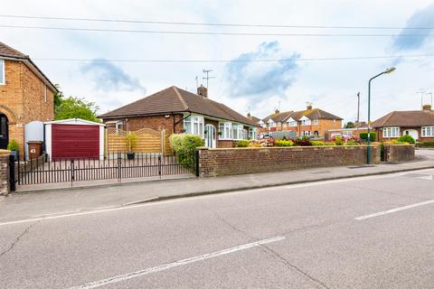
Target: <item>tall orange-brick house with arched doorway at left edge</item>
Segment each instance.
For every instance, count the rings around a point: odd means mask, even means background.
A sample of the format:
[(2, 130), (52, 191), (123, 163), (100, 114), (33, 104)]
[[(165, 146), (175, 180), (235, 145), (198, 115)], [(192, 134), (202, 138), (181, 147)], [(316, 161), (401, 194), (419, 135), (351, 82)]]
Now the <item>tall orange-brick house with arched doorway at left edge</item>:
[(24, 154), (24, 126), (54, 118), (56, 92), (28, 55), (0, 42), (0, 149), (14, 139)]

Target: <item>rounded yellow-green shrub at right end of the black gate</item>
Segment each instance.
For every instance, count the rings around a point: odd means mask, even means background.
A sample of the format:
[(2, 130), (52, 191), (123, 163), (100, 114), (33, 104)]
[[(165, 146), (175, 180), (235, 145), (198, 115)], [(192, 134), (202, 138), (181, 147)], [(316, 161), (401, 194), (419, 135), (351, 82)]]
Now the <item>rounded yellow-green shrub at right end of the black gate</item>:
[(197, 147), (205, 145), (205, 141), (199, 135), (174, 134), (169, 138), (170, 147), (175, 152), (178, 162), (188, 168), (194, 166), (194, 152)]

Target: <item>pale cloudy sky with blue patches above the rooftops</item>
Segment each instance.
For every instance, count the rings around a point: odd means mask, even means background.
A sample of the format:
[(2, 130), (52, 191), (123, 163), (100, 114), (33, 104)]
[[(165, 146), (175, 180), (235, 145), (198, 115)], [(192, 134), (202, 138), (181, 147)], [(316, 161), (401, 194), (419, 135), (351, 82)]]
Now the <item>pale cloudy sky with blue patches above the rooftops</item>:
[[(195, 92), (196, 76), (199, 84), (206, 85), (204, 69), (212, 70), (210, 98), (259, 118), (277, 108), (301, 110), (312, 103), (354, 121), (360, 92), (361, 120), (366, 120), (368, 80), (391, 66), (397, 70), (373, 80), (372, 119), (392, 110), (420, 109), (423, 94), (417, 92), (434, 92), (434, 30), (408, 29), (434, 27), (434, 2), (429, 0), (1, 2), (0, 42), (29, 54), (66, 96), (95, 102), (99, 113), (173, 85)], [(85, 22), (5, 15), (327, 28)], [(2, 25), (239, 34), (113, 33)], [(424, 54), (433, 56), (401, 57)], [(389, 58), (372, 58), (377, 56)], [(371, 58), (342, 60), (360, 57)], [(324, 60), (336, 58), (341, 60)], [(430, 103), (429, 94), (423, 102)]]

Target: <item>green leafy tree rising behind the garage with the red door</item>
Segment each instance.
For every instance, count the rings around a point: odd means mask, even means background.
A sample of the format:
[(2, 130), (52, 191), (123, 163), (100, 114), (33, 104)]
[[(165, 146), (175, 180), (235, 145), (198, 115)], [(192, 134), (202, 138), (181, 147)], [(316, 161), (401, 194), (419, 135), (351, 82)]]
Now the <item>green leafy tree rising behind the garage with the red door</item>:
[(97, 118), (98, 108), (94, 102), (86, 101), (84, 98), (61, 98), (60, 105), (55, 111), (55, 119), (81, 118), (99, 121)]

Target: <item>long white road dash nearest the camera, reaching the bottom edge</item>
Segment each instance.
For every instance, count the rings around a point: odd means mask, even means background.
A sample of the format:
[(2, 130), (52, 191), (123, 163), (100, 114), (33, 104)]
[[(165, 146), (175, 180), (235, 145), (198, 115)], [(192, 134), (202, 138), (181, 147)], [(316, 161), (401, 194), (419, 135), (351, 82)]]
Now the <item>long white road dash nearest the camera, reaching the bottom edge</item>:
[(128, 279), (132, 279), (132, 278), (137, 278), (143, 275), (148, 275), (148, 274), (152, 274), (152, 273), (156, 273), (156, 272), (161, 272), (161, 271), (165, 271), (171, 268), (175, 268), (178, 266), (184, 266), (187, 264), (191, 264), (194, 262), (199, 262), (199, 261), (203, 261), (206, 259), (211, 259), (213, 257), (216, 256), (223, 256), (223, 255), (228, 255), (237, 251), (241, 251), (241, 250), (245, 250), (245, 249), (249, 249), (251, 247), (258, 247), (260, 245), (263, 244), (269, 244), (269, 243), (273, 243), (273, 242), (277, 242), (277, 241), (281, 241), (285, 239), (285, 237), (279, 236), (279, 237), (275, 237), (275, 238), (266, 238), (263, 240), (259, 240), (253, 243), (248, 243), (248, 244), (244, 244), (241, 246), (237, 246), (237, 247), (230, 247), (227, 249), (223, 249), (220, 251), (216, 251), (216, 252), (212, 252), (212, 253), (208, 253), (208, 254), (203, 254), (201, 256), (193, 256), (191, 258), (187, 258), (187, 259), (183, 259), (183, 260), (178, 260), (172, 263), (167, 263), (164, 265), (160, 265), (160, 266), (156, 266), (156, 267), (151, 267), (151, 268), (146, 268), (143, 270), (139, 270), (136, 272), (132, 272), (132, 273), (128, 273), (128, 274), (124, 274), (124, 275), (117, 275), (117, 276), (112, 276), (109, 277), (107, 279), (102, 279), (99, 281), (95, 281), (95, 282), (91, 282), (91, 283), (87, 283), (87, 284), (82, 284), (79, 286), (75, 286), (75, 287), (71, 287), (70, 289), (90, 289), (90, 288), (98, 288), (100, 286), (104, 286), (107, 284), (113, 284), (113, 283), (118, 283), (121, 281), (125, 281)]

